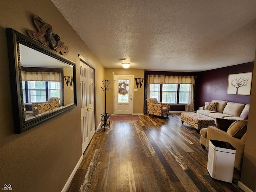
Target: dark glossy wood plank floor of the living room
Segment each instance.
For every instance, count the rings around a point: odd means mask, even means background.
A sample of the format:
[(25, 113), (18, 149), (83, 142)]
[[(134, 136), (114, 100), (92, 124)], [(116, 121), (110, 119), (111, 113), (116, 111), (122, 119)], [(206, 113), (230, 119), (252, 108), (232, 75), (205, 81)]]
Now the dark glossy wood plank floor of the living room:
[[(242, 192), (211, 178), (200, 134), (180, 114), (112, 121), (94, 134), (68, 192)], [(239, 172), (234, 172), (238, 178)]]

